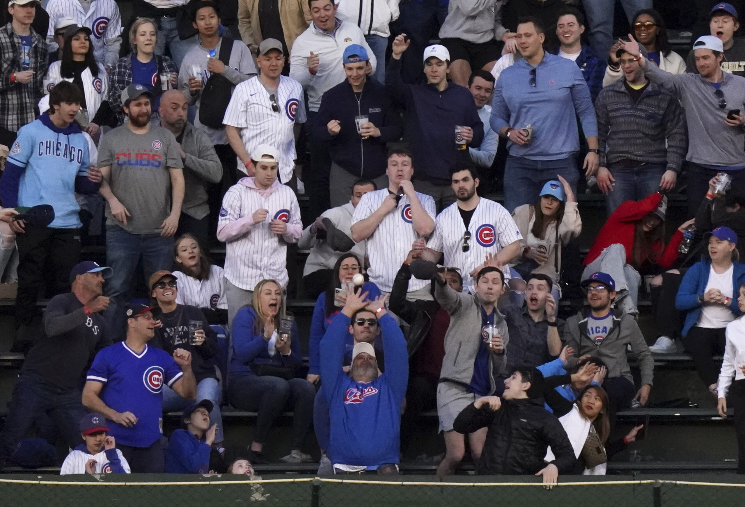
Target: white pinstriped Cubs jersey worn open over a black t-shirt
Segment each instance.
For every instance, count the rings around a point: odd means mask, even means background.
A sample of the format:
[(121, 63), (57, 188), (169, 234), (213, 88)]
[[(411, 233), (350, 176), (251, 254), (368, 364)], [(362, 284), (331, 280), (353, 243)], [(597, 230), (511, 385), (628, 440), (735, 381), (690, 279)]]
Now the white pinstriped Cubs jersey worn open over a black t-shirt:
[[(469, 273), (484, 264), (486, 254), (496, 254), (505, 246), (521, 240), (517, 224), (510, 213), (495, 201), (481, 197), (471, 216), (468, 230), (471, 233), (469, 251), (463, 252), (466, 226), (458, 211), (458, 203), (443, 209), (435, 222), (434, 234), (427, 247), (443, 252), (445, 265), (457, 267), (463, 276), (463, 288), (472, 289), (476, 281)], [(510, 268), (504, 268), (504, 279), (510, 278)]]

